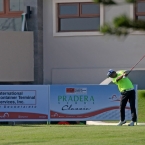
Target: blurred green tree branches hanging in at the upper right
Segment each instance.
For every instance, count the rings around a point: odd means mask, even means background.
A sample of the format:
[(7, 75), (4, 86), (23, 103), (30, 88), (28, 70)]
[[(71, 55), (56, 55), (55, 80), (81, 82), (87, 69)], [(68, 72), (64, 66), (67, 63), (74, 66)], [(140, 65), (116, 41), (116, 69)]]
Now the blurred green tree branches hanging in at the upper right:
[[(118, 5), (113, 0), (94, 0), (96, 3), (101, 3), (103, 5)], [(137, 0), (124, 0), (125, 3), (136, 3)], [(104, 34), (110, 35), (128, 35), (131, 31), (134, 30), (145, 30), (145, 21), (130, 19), (126, 14), (122, 14), (113, 19), (111, 24), (105, 23), (104, 26), (101, 26), (101, 32)]]

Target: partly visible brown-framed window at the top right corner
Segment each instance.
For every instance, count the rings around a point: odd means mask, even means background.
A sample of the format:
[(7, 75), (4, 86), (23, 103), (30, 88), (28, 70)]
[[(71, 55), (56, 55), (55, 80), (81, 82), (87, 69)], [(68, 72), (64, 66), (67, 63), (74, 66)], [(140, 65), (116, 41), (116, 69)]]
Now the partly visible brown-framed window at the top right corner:
[(135, 5), (135, 18), (145, 20), (145, 0), (138, 0)]

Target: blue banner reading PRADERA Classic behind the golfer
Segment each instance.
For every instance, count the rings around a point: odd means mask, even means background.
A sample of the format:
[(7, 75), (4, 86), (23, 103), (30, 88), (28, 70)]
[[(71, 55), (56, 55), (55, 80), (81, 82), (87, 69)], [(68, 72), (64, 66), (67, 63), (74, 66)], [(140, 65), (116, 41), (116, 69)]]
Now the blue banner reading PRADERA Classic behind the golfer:
[[(116, 85), (51, 85), (50, 90), (51, 121), (120, 120)], [(130, 119), (127, 103), (126, 120)]]

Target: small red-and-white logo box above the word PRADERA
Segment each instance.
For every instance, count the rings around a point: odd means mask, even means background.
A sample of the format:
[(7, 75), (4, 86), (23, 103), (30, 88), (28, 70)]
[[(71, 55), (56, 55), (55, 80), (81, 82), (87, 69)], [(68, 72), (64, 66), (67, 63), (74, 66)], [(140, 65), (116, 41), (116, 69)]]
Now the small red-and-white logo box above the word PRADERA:
[(87, 94), (87, 88), (66, 88), (67, 94)]

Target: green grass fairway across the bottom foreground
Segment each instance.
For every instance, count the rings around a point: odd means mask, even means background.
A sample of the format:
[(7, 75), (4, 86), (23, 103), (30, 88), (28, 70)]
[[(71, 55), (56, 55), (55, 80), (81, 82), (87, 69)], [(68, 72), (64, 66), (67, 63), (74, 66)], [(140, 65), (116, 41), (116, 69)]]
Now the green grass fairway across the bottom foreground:
[(144, 145), (145, 126), (0, 126), (0, 145)]

